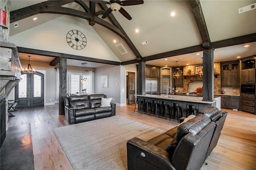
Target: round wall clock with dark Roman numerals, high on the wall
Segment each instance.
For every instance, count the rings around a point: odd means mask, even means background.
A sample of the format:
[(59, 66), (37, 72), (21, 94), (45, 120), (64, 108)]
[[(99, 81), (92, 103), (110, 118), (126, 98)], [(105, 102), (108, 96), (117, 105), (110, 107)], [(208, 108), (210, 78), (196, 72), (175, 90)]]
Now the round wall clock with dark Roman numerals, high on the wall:
[(71, 30), (67, 36), (68, 45), (74, 49), (83, 49), (86, 46), (86, 38), (84, 34), (78, 30)]

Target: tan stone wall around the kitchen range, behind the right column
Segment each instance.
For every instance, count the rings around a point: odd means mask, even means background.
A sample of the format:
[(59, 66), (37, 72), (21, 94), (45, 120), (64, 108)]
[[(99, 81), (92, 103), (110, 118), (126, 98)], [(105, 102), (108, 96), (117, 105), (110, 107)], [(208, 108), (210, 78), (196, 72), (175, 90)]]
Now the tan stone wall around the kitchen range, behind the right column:
[[(195, 75), (196, 66), (202, 66), (202, 65), (183, 66), (183, 76), (184, 76), (183, 92), (188, 92), (189, 83), (192, 83), (195, 81), (203, 81), (201, 77), (199, 77), (198, 75)], [(186, 75), (190, 75), (190, 76), (186, 76)], [(217, 76), (217, 77), (214, 76), (214, 94), (221, 94), (220, 62), (214, 63), (214, 75)]]

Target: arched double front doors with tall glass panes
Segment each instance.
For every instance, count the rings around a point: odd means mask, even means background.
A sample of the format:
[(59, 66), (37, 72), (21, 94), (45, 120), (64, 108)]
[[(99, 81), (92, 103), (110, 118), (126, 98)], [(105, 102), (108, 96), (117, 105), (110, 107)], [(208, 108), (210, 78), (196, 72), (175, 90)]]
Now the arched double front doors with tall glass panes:
[(22, 73), (20, 82), (15, 87), (16, 107), (44, 105), (44, 74)]

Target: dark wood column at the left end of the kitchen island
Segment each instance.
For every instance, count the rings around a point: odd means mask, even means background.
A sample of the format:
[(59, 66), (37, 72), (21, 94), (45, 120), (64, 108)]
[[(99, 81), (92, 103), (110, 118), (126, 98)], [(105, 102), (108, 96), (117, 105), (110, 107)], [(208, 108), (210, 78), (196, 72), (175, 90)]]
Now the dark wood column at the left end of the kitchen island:
[(138, 63), (138, 79), (137, 79), (137, 95), (145, 95), (145, 71), (146, 71), (146, 62), (141, 61)]

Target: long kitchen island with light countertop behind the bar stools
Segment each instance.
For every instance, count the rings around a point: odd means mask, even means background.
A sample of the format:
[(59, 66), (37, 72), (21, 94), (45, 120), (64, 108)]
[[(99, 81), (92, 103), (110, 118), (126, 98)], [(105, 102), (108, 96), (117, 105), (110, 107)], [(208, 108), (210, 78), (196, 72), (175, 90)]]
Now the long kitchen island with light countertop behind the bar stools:
[[(171, 103), (178, 103), (182, 108), (182, 116), (186, 117), (186, 105), (195, 105), (198, 111), (206, 109), (210, 106), (217, 107), (220, 109), (220, 96), (214, 96), (213, 101), (203, 101), (203, 97), (194, 95), (136, 95), (138, 99), (146, 99), (147, 101), (154, 100), (157, 103), (160, 101), (165, 101), (169, 106)], [(149, 106), (150, 107), (150, 106)]]

